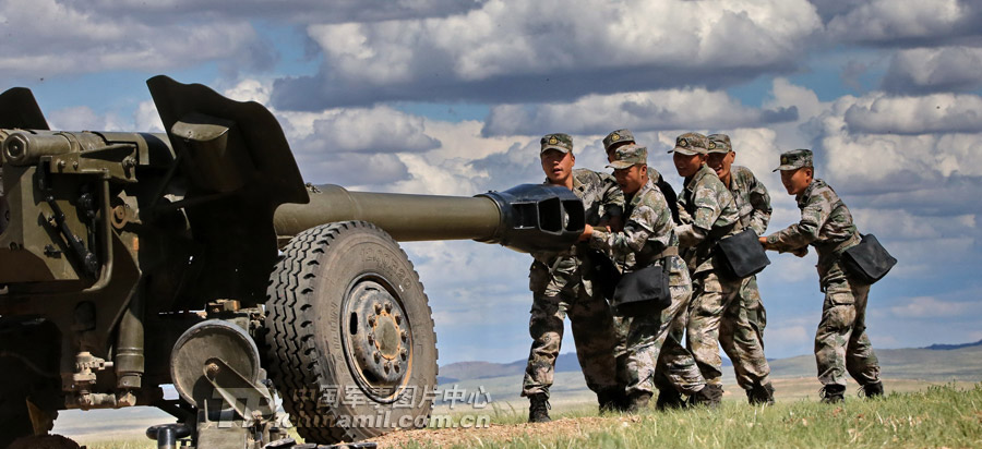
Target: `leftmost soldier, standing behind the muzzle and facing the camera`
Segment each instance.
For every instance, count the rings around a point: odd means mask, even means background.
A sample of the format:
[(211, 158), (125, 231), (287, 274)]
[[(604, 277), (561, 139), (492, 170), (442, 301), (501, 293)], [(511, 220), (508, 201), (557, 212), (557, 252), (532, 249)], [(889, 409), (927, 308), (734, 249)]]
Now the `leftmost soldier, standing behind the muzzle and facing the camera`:
[[(619, 190), (603, 189), (596, 172), (573, 170), (576, 158), (567, 134), (542, 137), (539, 158), (547, 184), (566, 186), (583, 201), (587, 223), (600, 225), (606, 217), (622, 214), (624, 196)], [(613, 317), (607, 301), (594, 289), (584, 250), (574, 245), (561, 254), (532, 254), (528, 325), (532, 344), (522, 387), (522, 396), (529, 399), (528, 421), (532, 423), (550, 421), (549, 387), (563, 339), (563, 317), (567, 315), (587, 387), (597, 393), (601, 410), (616, 406)]]

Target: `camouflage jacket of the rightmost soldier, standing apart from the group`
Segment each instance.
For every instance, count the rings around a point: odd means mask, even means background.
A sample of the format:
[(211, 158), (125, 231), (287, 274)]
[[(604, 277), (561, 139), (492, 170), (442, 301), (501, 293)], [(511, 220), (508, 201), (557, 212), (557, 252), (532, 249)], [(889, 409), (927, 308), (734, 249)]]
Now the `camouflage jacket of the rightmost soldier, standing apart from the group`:
[(801, 209), (801, 221), (768, 235), (768, 248), (783, 253), (811, 244), (818, 253), (822, 270), (831, 266), (842, 251), (859, 243), (852, 214), (825, 181), (812, 180), (795, 199)]

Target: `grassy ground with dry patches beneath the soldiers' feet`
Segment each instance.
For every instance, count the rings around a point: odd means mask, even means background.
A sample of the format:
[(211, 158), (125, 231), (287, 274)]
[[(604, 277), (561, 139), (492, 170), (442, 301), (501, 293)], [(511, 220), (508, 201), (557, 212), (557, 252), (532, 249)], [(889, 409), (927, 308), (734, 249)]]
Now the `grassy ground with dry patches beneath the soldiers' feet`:
[[(495, 403), (489, 428), (397, 432), (383, 448), (778, 448), (778, 447), (982, 447), (982, 384), (931, 385), (887, 380), (882, 400), (863, 400), (849, 389), (843, 405), (817, 402), (812, 379), (778, 379), (778, 403), (754, 408), (728, 393), (718, 411), (705, 409), (638, 415), (598, 415), (585, 402), (552, 410), (549, 424), (525, 424), (525, 404)], [(732, 390), (732, 389), (730, 389)], [(435, 410), (434, 413), (463, 411)], [(80, 438), (88, 449), (151, 449), (142, 438)]]

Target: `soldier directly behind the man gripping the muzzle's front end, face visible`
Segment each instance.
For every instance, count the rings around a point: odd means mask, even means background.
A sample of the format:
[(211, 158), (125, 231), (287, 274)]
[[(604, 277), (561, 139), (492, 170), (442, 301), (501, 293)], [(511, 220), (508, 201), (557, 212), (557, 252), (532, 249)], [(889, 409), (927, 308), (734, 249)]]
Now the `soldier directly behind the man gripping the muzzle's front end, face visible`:
[(705, 135), (686, 133), (675, 138), (675, 147), (669, 153), (674, 153), (675, 170), (685, 179), (679, 196), (681, 225), (675, 234), (693, 277), (686, 345), (706, 379), (705, 403), (717, 406), (722, 398), (720, 320), (736, 298), (740, 280), (719, 276), (714, 250), (719, 240), (734, 234), (740, 227), (733, 195), (706, 166), (708, 146)]

